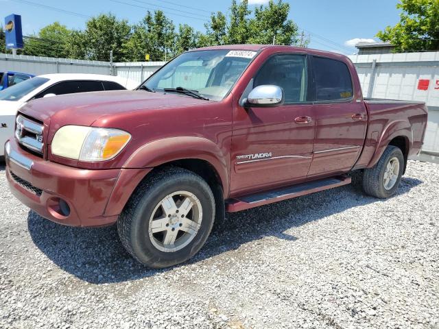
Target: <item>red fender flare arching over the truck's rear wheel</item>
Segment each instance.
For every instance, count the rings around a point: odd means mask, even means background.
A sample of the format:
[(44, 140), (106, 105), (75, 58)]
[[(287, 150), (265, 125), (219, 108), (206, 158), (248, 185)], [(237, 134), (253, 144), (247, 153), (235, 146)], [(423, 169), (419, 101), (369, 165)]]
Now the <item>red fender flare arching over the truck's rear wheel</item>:
[(379, 161), (379, 158), (381, 158), (381, 156), (383, 155), (385, 147), (389, 145), (390, 141), (392, 141), (393, 138), (399, 136), (407, 138), (410, 151), (413, 143), (413, 131), (410, 123), (406, 120), (392, 121), (384, 128), (383, 132), (381, 133), (381, 136), (379, 137), (377, 143), (377, 149), (375, 149), (375, 153), (373, 154), (372, 159), (367, 165), (367, 168), (375, 166), (375, 164), (377, 164), (377, 162)]

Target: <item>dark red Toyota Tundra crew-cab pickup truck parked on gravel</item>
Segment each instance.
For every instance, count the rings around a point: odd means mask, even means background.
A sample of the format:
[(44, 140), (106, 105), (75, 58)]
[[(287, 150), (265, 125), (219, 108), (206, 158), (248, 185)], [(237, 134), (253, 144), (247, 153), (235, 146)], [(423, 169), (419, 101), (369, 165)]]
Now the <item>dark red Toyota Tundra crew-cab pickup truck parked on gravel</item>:
[(364, 99), (345, 56), (296, 47), (188, 51), (134, 91), (27, 103), (5, 144), (12, 193), (69, 226), (117, 223), (150, 267), (193, 256), (224, 212), (322, 191), (363, 172), (396, 191), (423, 145), (424, 103)]

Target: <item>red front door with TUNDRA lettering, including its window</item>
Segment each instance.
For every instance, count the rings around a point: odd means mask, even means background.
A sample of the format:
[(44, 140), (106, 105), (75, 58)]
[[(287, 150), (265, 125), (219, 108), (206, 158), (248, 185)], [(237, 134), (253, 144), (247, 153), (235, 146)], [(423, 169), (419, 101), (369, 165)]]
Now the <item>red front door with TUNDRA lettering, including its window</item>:
[(283, 106), (235, 105), (230, 196), (306, 179), (315, 133), (313, 105), (307, 101), (307, 76), (307, 56), (297, 53), (271, 56), (254, 76), (252, 87), (281, 86), (285, 93)]

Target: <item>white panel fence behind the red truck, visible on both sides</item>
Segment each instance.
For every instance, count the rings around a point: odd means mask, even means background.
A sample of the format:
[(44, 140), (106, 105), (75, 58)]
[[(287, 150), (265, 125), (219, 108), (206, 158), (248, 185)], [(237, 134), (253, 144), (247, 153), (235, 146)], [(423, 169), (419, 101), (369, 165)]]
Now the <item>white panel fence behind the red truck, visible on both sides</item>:
[[(425, 101), (429, 121), (423, 150), (439, 154), (439, 51), (349, 56), (366, 97)], [(112, 74), (139, 84), (165, 62), (110, 63), (0, 53), (0, 71)]]

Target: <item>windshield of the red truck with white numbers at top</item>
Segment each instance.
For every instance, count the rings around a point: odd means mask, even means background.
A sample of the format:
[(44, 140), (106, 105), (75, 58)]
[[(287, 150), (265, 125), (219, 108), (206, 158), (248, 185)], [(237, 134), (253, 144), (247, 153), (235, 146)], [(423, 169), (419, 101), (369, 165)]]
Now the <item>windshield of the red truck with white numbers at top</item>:
[(219, 101), (228, 94), (256, 54), (256, 51), (242, 50), (182, 53), (154, 73), (139, 89), (196, 96), (188, 93), (191, 90), (204, 98)]

